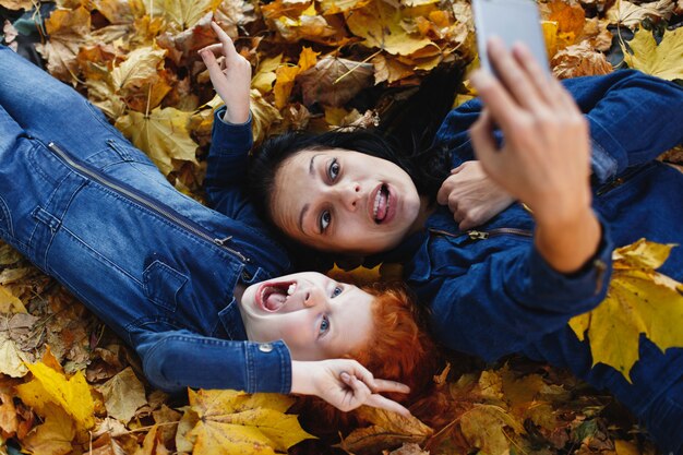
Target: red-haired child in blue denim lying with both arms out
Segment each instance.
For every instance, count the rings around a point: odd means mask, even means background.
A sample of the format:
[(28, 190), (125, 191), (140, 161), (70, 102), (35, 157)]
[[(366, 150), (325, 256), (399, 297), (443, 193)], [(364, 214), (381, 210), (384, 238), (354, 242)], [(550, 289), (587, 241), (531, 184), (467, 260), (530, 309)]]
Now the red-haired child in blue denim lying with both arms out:
[[(212, 76), (244, 83), (216, 117), (206, 181), (223, 214), (176, 191), (100, 111), (3, 47), (0, 236), (130, 344), (159, 388), (291, 392), (406, 414), (380, 395), (406, 385), (349, 359), (420, 388), (410, 373), (432, 360), (405, 292), (313, 273), (273, 278), (288, 258), (230, 180), (251, 145), (250, 68), (215, 28), (228, 69), (204, 55)], [(385, 306), (402, 314), (391, 324)], [(416, 349), (385, 367), (405, 345)]]

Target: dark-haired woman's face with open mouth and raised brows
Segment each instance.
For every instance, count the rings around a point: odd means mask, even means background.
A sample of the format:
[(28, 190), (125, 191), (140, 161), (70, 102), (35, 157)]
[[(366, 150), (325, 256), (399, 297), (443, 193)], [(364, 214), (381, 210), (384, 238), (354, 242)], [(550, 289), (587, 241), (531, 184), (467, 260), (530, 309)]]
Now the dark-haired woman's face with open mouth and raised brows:
[(275, 224), (303, 244), (368, 254), (419, 227), (420, 196), (408, 173), (386, 159), (315, 149), (283, 161), (271, 208)]

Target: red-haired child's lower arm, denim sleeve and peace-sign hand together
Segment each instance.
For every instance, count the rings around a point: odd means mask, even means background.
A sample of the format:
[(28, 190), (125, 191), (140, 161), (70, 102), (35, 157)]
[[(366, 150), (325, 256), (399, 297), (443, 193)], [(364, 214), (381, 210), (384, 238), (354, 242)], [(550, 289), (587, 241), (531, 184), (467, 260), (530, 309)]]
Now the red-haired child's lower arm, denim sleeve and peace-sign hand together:
[(408, 393), (408, 386), (373, 378), (355, 360), (291, 360), (283, 342), (212, 338), (189, 331), (143, 332), (133, 336), (147, 380), (168, 392), (187, 387), (233, 388), (315, 395), (348, 411), (361, 405), (409, 411), (380, 393)]

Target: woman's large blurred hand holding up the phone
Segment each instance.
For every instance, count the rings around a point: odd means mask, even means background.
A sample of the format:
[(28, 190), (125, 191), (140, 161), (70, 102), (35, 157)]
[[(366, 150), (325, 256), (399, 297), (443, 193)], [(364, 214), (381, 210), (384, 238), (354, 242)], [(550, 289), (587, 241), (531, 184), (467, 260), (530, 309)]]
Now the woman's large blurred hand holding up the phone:
[[(600, 240), (590, 206), (588, 123), (526, 47), (508, 52), (491, 39), (488, 50), (499, 77), (479, 71), (471, 80), (486, 106), (470, 129), (475, 153), (491, 179), (534, 212), (541, 255), (558, 271), (574, 272)], [(494, 125), (503, 131), (501, 147)]]

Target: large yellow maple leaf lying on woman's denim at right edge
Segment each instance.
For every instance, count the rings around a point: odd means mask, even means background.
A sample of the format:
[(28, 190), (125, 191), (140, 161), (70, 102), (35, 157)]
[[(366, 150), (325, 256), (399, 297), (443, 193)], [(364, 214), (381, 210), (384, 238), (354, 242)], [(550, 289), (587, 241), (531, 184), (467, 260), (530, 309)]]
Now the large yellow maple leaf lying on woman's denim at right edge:
[(595, 310), (570, 320), (579, 340), (588, 337), (592, 363), (613, 367), (628, 382), (638, 360), (640, 334), (662, 351), (683, 347), (683, 285), (655, 271), (672, 247), (640, 239), (615, 250), (607, 298)]

